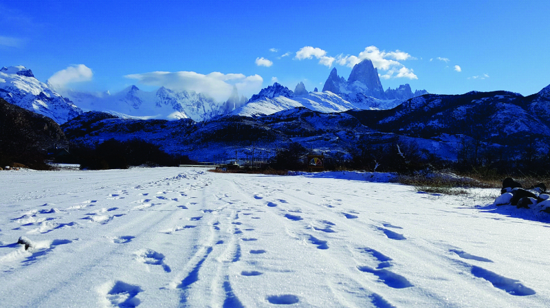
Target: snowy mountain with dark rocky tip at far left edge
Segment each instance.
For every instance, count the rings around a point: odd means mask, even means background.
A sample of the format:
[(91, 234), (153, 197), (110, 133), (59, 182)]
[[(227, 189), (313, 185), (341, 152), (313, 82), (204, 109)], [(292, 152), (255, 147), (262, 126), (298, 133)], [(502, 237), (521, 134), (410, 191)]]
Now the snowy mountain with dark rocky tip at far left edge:
[(21, 65), (0, 69), (0, 98), (60, 124), (83, 113), (71, 100), (41, 83), (30, 69)]

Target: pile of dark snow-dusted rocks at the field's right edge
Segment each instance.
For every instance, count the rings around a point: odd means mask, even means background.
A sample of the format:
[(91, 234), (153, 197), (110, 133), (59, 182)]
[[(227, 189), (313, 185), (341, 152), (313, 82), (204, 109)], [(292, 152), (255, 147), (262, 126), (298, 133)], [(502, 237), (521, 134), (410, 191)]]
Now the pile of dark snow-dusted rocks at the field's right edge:
[(527, 189), (521, 184), (507, 177), (503, 181), (503, 189), (500, 197), (494, 201), (495, 206), (511, 205), (517, 208), (538, 208), (541, 212), (550, 214), (550, 195), (546, 191), (544, 183), (536, 184)]

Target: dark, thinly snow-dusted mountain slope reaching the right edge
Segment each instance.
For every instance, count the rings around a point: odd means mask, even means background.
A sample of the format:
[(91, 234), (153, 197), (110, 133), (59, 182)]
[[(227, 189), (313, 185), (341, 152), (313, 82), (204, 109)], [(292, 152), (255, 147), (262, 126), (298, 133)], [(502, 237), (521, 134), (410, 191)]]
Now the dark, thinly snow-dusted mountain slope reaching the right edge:
[(528, 139), (550, 139), (547, 89), (527, 98), (507, 91), (428, 94), (390, 110), (347, 113), (384, 132), (423, 138), (463, 134), (486, 142), (518, 145)]

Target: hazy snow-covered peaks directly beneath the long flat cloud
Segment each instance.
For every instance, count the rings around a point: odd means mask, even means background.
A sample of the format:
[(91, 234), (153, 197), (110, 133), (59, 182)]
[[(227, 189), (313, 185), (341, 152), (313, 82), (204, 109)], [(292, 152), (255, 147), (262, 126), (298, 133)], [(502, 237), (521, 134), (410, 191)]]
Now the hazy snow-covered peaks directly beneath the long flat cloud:
[(116, 94), (70, 91), (67, 96), (83, 109), (112, 113), (123, 118), (190, 118), (200, 122), (224, 113), (223, 104), (203, 94), (173, 91), (165, 87), (157, 91), (142, 91), (132, 85)]

